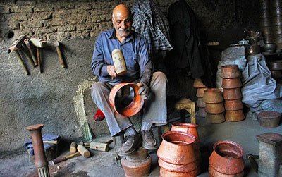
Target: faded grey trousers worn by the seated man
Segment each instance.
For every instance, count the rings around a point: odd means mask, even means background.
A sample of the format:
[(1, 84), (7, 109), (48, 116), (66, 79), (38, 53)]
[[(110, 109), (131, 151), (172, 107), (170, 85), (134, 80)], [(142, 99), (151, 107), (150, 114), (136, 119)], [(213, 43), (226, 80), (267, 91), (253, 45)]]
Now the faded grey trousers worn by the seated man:
[[(145, 100), (142, 109), (142, 122), (155, 123), (157, 126), (167, 123), (166, 85), (167, 78), (164, 73), (153, 73), (152, 80), (149, 84), (149, 97)], [(92, 85), (91, 96), (97, 107), (104, 113), (111, 136), (114, 136), (122, 130), (133, 126), (133, 124), (128, 117), (119, 115), (111, 106), (109, 94), (112, 87), (114, 85), (109, 83), (95, 83)]]

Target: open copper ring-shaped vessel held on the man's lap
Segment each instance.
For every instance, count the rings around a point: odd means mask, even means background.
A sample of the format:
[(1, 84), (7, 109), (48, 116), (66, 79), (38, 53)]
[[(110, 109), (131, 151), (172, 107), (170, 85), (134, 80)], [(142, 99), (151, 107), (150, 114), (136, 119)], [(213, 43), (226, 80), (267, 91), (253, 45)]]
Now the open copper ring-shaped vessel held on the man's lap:
[[(116, 94), (118, 90), (120, 90), (122, 87), (125, 87), (126, 85), (129, 85), (133, 88), (134, 97), (130, 104), (128, 104), (127, 106), (121, 106), (117, 104), (118, 98), (116, 98)], [(109, 94), (109, 101), (111, 106), (113, 106), (114, 110), (121, 116), (134, 116), (142, 109), (142, 106), (144, 104), (144, 99), (141, 98), (140, 94), (137, 94), (138, 90), (139, 87), (135, 83), (118, 83), (111, 89), (111, 92)]]

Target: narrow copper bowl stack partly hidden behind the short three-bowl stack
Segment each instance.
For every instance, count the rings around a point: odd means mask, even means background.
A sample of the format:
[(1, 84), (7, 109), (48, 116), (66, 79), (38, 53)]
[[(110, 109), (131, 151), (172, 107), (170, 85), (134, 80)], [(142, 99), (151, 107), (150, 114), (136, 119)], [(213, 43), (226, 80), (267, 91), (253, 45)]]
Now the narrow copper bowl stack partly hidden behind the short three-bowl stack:
[(197, 106), (199, 107), (198, 116), (205, 117), (207, 115), (206, 111), (204, 111), (206, 104), (202, 101), (202, 98), (204, 97), (204, 90), (206, 90), (207, 87), (202, 83), (200, 78), (196, 78), (194, 80), (193, 87), (197, 88)]

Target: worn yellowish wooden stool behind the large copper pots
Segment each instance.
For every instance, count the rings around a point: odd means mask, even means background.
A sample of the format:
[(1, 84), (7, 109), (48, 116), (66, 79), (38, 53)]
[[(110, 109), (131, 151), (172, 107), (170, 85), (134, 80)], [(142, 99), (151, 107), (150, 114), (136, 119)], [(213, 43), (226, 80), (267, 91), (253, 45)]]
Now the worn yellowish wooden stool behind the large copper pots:
[[(195, 102), (192, 102), (187, 98), (176, 99), (173, 97), (168, 97), (166, 102), (168, 115), (173, 113), (174, 111), (180, 111), (180, 121), (185, 122), (185, 110), (190, 113), (191, 123), (196, 124), (196, 110), (195, 110)], [(164, 125), (164, 132), (169, 131), (169, 116), (168, 116), (168, 124)], [(161, 140), (161, 126), (158, 126), (158, 136), (159, 142)]]

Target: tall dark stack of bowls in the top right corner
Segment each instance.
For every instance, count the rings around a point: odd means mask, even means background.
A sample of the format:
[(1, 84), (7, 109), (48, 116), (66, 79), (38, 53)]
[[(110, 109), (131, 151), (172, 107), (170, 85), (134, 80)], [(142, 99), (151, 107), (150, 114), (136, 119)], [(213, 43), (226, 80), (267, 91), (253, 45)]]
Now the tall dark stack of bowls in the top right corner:
[(276, 44), (282, 49), (282, 1), (259, 0), (259, 28), (265, 44)]

